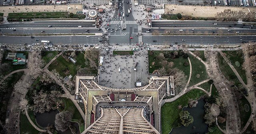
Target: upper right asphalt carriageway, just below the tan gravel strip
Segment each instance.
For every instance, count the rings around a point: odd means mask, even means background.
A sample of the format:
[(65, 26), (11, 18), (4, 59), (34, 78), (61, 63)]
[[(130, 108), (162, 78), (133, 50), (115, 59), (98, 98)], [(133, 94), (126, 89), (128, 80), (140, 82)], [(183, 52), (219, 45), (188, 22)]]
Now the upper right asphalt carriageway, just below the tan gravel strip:
[[(217, 25), (214, 25), (216, 23)], [(233, 25), (234, 24), (234, 25)], [(152, 28), (154, 27), (170, 27), (170, 28), (241, 28), (242, 23), (237, 22), (216, 22), (216, 21), (152, 21)], [(255, 26), (244, 24), (243, 28), (250, 28)]]

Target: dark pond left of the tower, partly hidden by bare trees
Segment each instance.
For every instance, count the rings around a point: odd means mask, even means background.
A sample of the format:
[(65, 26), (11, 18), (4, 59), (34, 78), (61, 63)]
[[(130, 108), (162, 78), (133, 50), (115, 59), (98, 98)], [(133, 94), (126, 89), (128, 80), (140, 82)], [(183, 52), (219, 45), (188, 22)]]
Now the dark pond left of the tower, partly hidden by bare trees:
[[(58, 114), (58, 110), (50, 110), (49, 112), (36, 113), (36, 122), (39, 126), (45, 128), (48, 124), (55, 124), (55, 115)], [(76, 134), (80, 134), (79, 125), (76, 122), (71, 122), (72, 125), (76, 127)], [(65, 132), (57, 131), (58, 134), (72, 134), (71, 130), (68, 129)]]

